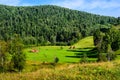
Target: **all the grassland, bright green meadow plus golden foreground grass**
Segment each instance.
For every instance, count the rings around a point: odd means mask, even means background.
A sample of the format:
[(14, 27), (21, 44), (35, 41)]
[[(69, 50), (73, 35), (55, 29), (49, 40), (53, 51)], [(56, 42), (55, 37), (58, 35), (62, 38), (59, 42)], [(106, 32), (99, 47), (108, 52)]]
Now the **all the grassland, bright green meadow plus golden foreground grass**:
[[(87, 37), (70, 46), (39, 46), (27, 48), (27, 64), (23, 72), (0, 73), (0, 80), (120, 80), (120, 57), (111, 62), (74, 63), (79, 62), (82, 54), (89, 60), (96, 60), (92, 49), (93, 37)], [(37, 52), (31, 52), (37, 50)], [(120, 50), (116, 51), (120, 54)], [(60, 62), (51, 63), (58, 57)]]

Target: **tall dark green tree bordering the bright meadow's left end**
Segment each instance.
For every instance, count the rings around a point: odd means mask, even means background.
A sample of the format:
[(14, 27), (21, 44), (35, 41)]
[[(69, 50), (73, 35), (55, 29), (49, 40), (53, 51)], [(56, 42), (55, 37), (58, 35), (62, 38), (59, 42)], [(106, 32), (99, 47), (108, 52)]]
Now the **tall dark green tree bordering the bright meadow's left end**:
[(22, 71), (25, 66), (26, 56), (22, 51), (23, 44), (19, 36), (15, 35), (9, 45), (9, 53), (12, 54), (11, 66), (18, 71)]

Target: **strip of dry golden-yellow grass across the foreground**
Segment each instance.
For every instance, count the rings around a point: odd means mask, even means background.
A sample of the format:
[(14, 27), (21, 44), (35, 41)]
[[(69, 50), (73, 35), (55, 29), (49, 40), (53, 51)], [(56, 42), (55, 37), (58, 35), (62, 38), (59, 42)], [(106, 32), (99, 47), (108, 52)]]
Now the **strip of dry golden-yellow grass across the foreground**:
[(120, 80), (119, 65), (120, 61), (39, 66), (33, 72), (1, 73), (0, 80)]

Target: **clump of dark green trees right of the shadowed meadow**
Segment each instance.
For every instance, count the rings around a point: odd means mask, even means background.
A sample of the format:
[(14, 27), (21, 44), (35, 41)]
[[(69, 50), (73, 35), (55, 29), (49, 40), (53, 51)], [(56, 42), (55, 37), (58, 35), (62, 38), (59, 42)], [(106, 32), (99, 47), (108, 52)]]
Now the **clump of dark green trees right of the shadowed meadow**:
[(97, 29), (94, 33), (94, 45), (98, 50), (99, 61), (114, 60), (114, 51), (120, 49), (120, 30), (115, 27)]

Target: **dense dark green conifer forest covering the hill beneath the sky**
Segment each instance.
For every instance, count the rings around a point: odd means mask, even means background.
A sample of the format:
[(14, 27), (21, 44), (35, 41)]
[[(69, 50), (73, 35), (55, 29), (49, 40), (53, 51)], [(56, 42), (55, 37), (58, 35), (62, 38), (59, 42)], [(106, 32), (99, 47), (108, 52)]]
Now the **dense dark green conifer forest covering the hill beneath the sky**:
[(118, 23), (100, 16), (58, 6), (13, 7), (0, 5), (0, 40), (19, 34), (25, 45), (71, 45), (93, 35), (97, 25)]

